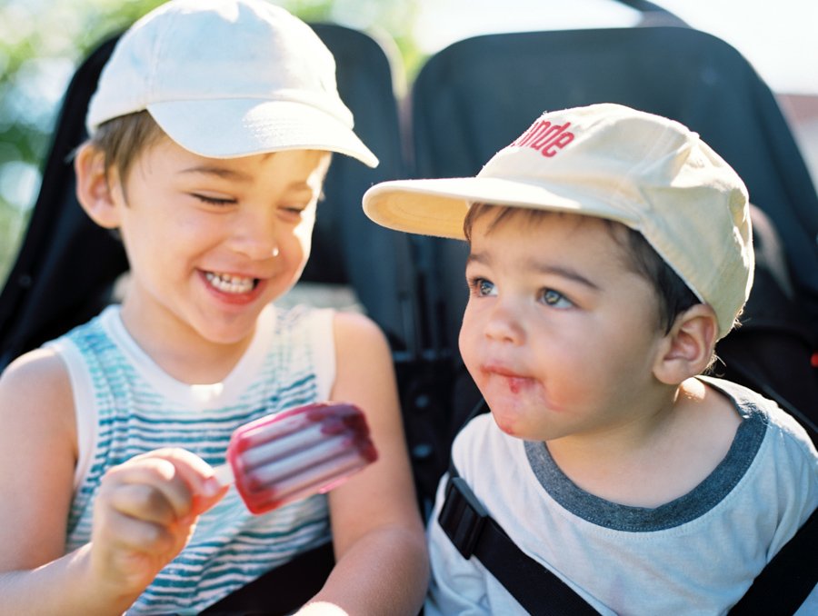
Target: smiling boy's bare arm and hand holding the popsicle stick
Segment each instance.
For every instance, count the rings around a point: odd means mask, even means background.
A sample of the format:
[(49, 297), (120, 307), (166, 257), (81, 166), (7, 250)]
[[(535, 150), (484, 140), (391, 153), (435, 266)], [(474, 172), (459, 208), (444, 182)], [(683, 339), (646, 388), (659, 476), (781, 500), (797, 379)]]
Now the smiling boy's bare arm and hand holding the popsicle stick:
[(5, 371), (0, 423), (0, 614), (122, 613), (184, 545), (191, 516), (214, 502), (191, 494), (205, 488), (205, 462), (140, 456), (105, 476), (93, 541), (65, 554), (77, 438), (54, 353), (28, 353)]

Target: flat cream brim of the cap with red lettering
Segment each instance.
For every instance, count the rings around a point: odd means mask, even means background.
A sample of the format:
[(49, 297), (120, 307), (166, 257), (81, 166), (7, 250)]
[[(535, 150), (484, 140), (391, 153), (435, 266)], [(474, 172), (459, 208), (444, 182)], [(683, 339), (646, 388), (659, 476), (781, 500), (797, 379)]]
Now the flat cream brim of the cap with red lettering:
[(364, 194), (364, 213), (396, 231), (464, 239), (463, 223), (474, 203), (600, 216), (628, 226), (632, 215), (584, 197), (557, 194), (542, 185), (494, 177), (395, 180), (376, 184)]

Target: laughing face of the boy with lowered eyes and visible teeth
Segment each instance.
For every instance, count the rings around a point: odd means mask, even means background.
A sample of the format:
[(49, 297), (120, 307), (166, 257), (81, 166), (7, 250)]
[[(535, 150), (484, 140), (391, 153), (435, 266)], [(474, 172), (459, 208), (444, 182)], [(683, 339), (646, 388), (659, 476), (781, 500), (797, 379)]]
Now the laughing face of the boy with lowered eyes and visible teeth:
[(329, 159), (307, 150), (210, 159), (162, 138), (125, 182), (113, 169), (110, 207), (95, 220), (122, 234), (131, 265), (122, 313), (135, 338), (248, 343), (264, 305), (304, 269)]

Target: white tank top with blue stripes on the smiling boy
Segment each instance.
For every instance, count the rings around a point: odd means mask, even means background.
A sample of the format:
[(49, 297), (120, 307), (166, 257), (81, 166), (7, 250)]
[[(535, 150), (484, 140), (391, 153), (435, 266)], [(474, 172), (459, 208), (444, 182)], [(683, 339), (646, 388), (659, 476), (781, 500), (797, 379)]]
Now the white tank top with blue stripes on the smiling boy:
[[(111, 466), (159, 447), (183, 447), (221, 464), (236, 427), (327, 399), (335, 371), (332, 323), (330, 310), (268, 306), (233, 372), (205, 385), (163, 372), (127, 333), (118, 306), (49, 343), (68, 368), (77, 420), (66, 552), (90, 540), (95, 494)], [(232, 488), (201, 516), (189, 544), (127, 613), (202, 611), (329, 540), (324, 495), (254, 516)]]

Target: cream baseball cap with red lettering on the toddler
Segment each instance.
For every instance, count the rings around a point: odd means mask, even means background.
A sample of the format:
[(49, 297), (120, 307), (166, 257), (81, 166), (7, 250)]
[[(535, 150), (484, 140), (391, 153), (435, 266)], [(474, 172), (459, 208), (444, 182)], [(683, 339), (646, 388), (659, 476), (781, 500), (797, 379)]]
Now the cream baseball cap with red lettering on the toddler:
[(741, 178), (683, 124), (620, 104), (543, 114), (476, 177), (384, 182), (364, 194), (375, 223), (458, 239), (473, 203), (598, 216), (633, 228), (713, 307), (720, 338), (753, 284)]

